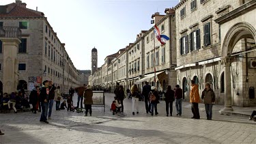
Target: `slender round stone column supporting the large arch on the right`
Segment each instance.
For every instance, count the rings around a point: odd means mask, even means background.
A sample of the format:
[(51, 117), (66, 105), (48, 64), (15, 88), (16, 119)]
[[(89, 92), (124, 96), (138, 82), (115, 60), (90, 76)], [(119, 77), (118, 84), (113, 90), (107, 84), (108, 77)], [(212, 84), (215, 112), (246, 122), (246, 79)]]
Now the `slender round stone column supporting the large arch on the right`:
[(224, 65), (224, 76), (225, 76), (225, 107), (221, 109), (220, 113), (225, 114), (225, 112), (233, 111), (232, 108), (232, 98), (231, 98), (231, 57), (223, 57), (221, 59)]

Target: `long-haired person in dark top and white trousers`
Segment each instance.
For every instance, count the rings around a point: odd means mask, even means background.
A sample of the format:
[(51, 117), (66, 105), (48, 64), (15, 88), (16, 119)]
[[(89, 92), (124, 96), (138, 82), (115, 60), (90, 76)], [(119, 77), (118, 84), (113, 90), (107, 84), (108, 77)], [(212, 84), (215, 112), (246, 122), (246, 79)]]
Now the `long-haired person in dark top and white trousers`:
[(134, 106), (136, 106), (137, 114), (139, 113), (139, 89), (136, 84), (130, 89), (132, 94), (132, 115), (135, 115)]

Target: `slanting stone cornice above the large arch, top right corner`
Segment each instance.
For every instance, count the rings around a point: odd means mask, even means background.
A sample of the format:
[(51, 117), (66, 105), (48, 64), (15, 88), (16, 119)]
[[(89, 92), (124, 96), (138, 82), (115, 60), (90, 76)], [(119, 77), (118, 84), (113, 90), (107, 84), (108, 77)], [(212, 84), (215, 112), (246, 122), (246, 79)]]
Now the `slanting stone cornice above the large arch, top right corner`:
[(255, 10), (256, 8), (256, 1), (249, 1), (244, 5), (241, 5), (239, 8), (232, 10), (231, 12), (224, 14), (223, 16), (216, 18), (214, 21), (218, 24), (226, 23), (229, 20), (237, 18), (238, 16), (242, 16), (246, 14), (246, 12), (250, 12), (251, 10)]

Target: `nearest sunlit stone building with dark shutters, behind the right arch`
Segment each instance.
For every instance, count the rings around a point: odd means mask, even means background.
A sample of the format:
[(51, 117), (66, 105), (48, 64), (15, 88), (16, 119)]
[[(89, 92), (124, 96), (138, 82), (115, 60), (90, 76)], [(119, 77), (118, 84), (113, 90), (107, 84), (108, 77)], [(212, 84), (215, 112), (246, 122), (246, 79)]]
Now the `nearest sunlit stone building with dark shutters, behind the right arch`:
[[(255, 2), (255, 1), (254, 1)], [(229, 106), (255, 105), (255, 99), (249, 98), (249, 87), (255, 87), (255, 79), (250, 73), (254, 68), (246, 68), (250, 63), (248, 57), (255, 58), (252, 49), (255, 47), (255, 37), (234, 38), (229, 53), (224, 51), (226, 34), (231, 23), (219, 23), (223, 16), (230, 16), (240, 8), (248, 8), (248, 13), (240, 13), (241, 23), (252, 23), (255, 31), (255, 5), (253, 1), (240, 0), (183, 0), (175, 6), (177, 33), (177, 83), (184, 89), (184, 99), (189, 100), (190, 80), (195, 80), (199, 90), (203, 91), (205, 83), (210, 83), (216, 93), (216, 103)], [(247, 12), (246, 11), (246, 12)], [(254, 13), (253, 13), (254, 12)], [(248, 19), (246, 19), (246, 18)], [(225, 21), (225, 20), (222, 20)], [(253, 33), (251, 33), (253, 35)], [(236, 40), (235, 40), (236, 39)], [(232, 51), (233, 50), (233, 51)], [(246, 57), (239, 57), (246, 53)], [(224, 59), (229, 55), (232, 59)], [(240, 58), (240, 59), (239, 59)], [(227, 63), (227, 66), (225, 63)], [(247, 74), (246, 74), (247, 71)], [(226, 75), (227, 74), (227, 75)], [(251, 78), (246, 80), (246, 78)], [(227, 99), (229, 98), (229, 99)]]

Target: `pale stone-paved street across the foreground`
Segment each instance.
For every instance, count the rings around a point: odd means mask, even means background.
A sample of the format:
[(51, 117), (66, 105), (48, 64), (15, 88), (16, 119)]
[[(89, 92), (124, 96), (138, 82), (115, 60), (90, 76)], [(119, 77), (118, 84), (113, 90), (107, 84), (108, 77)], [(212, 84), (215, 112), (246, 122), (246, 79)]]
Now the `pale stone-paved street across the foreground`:
[[(140, 102), (143, 111), (132, 116), (131, 102), (127, 99), (124, 102), (127, 116), (118, 117), (109, 111), (112, 98), (112, 94), (106, 94), (106, 113), (93, 107), (92, 117), (53, 110), (50, 124), (39, 122), (40, 113), (0, 113), (0, 128), (5, 130), (0, 143), (256, 143), (255, 123), (221, 120), (242, 121), (246, 117), (214, 112), (214, 120), (208, 121), (203, 119), (205, 113), (200, 109), (202, 119), (190, 119), (186, 102), (182, 117), (166, 117), (164, 102), (158, 106), (158, 116), (146, 114), (143, 102)], [(76, 105), (75, 101), (76, 98)]]

